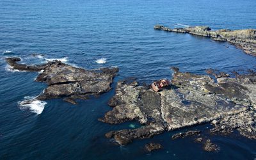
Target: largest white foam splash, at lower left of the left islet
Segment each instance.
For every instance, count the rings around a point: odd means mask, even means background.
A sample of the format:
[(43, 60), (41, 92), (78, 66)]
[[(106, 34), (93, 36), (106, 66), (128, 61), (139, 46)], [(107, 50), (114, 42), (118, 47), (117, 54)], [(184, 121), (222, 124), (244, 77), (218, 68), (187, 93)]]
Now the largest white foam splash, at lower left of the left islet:
[(35, 97), (24, 97), (24, 100), (18, 102), (20, 109), (29, 109), (29, 111), (40, 115), (47, 104), (44, 101), (36, 100)]

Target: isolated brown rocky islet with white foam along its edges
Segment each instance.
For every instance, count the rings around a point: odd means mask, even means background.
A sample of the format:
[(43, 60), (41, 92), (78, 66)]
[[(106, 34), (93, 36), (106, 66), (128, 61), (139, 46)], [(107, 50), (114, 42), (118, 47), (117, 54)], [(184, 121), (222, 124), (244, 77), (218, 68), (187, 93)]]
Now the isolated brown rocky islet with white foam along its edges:
[(43, 65), (24, 65), (17, 63), (20, 58), (6, 58), (5, 60), (13, 69), (42, 71), (36, 77), (36, 81), (47, 83), (48, 87), (36, 99), (64, 98), (72, 104), (76, 104), (75, 99), (88, 99), (89, 95), (108, 92), (118, 72), (118, 68), (85, 70), (61, 61), (51, 61)]

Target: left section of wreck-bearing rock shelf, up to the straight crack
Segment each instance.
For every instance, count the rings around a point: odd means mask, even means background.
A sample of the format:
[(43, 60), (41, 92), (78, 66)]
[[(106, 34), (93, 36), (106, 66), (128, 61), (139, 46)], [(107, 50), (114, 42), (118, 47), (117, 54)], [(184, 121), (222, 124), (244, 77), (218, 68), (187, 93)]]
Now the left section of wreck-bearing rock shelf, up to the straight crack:
[(110, 100), (116, 106), (99, 120), (109, 124), (138, 120), (145, 124), (138, 129), (111, 132), (111, 137), (120, 145), (131, 143), (135, 138), (150, 138), (164, 131), (160, 100), (160, 95), (152, 90), (146, 90), (137, 83), (126, 84), (125, 81), (120, 81), (116, 87), (116, 95)]

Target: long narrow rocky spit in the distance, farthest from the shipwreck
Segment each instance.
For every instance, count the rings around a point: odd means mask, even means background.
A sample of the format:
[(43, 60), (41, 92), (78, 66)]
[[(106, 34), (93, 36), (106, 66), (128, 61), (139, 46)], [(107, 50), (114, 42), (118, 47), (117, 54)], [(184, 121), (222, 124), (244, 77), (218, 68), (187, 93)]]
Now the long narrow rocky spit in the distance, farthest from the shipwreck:
[(207, 36), (212, 40), (229, 42), (237, 48), (242, 49), (246, 54), (256, 56), (256, 29), (230, 30), (220, 29), (212, 31), (208, 26), (195, 26), (189, 28), (168, 28), (161, 25), (154, 26), (154, 29), (172, 31), (177, 33), (189, 33), (191, 35)]

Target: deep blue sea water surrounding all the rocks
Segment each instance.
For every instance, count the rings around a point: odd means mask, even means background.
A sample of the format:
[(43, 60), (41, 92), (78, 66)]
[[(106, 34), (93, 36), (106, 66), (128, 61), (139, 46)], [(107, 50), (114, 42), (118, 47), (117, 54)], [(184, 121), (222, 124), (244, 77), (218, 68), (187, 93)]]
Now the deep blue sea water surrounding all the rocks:
[[(43, 63), (45, 58), (66, 58), (77, 67), (117, 66), (120, 72), (113, 88), (125, 77), (147, 83), (171, 78), (170, 66), (199, 74), (205, 68), (255, 68), (255, 57), (227, 43), (153, 29), (155, 24), (177, 27), (177, 23), (212, 29), (256, 28), (255, 8), (256, 1), (249, 0), (1, 0), (0, 159), (255, 159), (255, 141), (238, 134), (211, 137), (220, 146), (217, 153), (203, 152), (192, 138), (171, 140), (177, 131), (124, 147), (113, 145), (104, 138), (106, 132), (136, 124), (97, 121), (111, 109), (107, 102), (114, 90), (79, 100), (76, 106), (47, 100), (41, 114), (20, 109), (19, 101), (35, 97), (46, 85), (34, 82), (37, 73), (8, 71), (3, 60), (19, 56), (22, 63)], [(35, 52), (45, 56), (31, 56)], [(100, 58), (106, 58), (106, 63), (95, 62)], [(211, 126), (195, 128), (207, 127)], [(142, 148), (148, 141), (160, 142), (164, 149), (145, 154)]]

